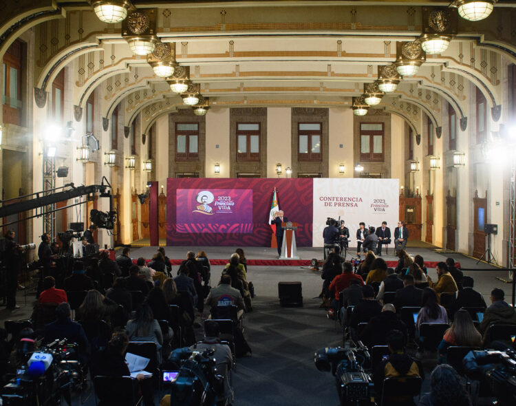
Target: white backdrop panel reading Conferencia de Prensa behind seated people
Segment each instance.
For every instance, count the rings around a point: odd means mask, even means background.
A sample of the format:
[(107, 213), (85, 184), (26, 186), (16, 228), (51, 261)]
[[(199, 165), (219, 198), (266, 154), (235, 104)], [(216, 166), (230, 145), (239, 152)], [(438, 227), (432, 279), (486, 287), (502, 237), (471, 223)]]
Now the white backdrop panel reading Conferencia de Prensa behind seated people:
[(356, 247), (358, 223), (375, 228), (387, 222), (394, 239), (399, 220), (398, 179), (314, 179), (314, 247), (322, 247), (327, 217), (345, 221), (350, 230), (350, 247)]

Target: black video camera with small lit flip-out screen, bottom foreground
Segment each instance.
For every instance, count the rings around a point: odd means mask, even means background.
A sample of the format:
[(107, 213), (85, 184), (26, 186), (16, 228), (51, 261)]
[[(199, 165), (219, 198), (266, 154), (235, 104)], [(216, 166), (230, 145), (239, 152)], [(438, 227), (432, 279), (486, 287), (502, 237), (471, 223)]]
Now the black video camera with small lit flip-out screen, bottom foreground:
[(217, 395), (224, 394), (224, 376), (217, 374), (213, 353), (178, 348), (170, 359), (178, 365), (178, 371), (164, 371), (164, 383), (171, 385), (171, 406), (214, 406)]

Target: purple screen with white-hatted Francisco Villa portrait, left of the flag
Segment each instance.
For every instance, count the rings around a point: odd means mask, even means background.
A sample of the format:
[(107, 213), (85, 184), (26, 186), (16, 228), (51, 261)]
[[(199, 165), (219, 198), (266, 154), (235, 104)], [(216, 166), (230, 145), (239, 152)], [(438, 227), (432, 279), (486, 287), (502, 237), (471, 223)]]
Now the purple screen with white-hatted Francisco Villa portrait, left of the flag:
[(252, 233), (252, 189), (177, 189), (178, 233)]

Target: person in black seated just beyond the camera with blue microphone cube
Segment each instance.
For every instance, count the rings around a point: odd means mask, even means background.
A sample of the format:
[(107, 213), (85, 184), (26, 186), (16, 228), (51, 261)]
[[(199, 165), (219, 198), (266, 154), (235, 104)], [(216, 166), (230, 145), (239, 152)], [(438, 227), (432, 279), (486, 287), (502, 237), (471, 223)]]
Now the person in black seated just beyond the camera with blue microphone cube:
[(45, 326), (44, 341), (46, 344), (55, 340), (67, 339), (68, 343), (79, 345), (79, 357), (85, 362), (89, 353), (89, 343), (83, 326), (70, 318), (72, 310), (68, 303), (59, 303), (56, 307), (56, 321)]

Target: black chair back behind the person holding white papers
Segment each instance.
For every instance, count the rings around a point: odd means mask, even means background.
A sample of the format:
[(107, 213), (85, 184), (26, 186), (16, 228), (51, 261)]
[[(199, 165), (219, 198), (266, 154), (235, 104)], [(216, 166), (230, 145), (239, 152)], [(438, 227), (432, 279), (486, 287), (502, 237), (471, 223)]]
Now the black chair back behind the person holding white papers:
[(97, 406), (138, 406), (142, 399), (136, 399), (136, 387), (130, 376), (95, 376), (93, 378), (95, 403)]

